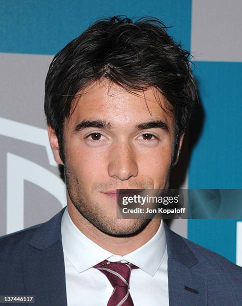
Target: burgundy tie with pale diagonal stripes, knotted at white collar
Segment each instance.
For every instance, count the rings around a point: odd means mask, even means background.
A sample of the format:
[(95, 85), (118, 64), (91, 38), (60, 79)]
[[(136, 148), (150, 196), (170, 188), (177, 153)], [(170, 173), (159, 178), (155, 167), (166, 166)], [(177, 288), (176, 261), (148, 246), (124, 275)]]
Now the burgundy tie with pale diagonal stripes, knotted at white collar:
[(136, 265), (130, 262), (122, 263), (103, 260), (93, 267), (105, 274), (113, 286), (107, 306), (133, 306), (128, 289), (131, 269), (137, 269)]

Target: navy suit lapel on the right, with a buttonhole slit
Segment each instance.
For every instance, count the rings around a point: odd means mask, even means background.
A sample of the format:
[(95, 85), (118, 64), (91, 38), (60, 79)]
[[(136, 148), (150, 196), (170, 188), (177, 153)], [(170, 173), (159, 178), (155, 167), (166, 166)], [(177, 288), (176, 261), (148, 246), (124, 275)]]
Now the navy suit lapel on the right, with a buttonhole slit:
[[(207, 283), (198, 260), (181, 236), (164, 222), (168, 255), (169, 306), (207, 305)], [(198, 270), (198, 272), (197, 272)]]

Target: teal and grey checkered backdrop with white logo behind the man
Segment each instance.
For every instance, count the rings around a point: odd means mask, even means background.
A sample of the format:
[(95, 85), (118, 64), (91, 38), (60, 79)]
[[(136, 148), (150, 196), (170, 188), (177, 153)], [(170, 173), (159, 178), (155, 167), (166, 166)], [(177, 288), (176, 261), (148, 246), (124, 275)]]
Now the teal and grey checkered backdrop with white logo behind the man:
[[(174, 186), (241, 189), (241, 10), (240, 0), (0, 0), (0, 235), (66, 205), (47, 138), (44, 79), (53, 55), (99, 17), (158, 17), (191, 50), (200, 104)], [(242, 266), (242, 220), (176, 219), (170, 227)]]

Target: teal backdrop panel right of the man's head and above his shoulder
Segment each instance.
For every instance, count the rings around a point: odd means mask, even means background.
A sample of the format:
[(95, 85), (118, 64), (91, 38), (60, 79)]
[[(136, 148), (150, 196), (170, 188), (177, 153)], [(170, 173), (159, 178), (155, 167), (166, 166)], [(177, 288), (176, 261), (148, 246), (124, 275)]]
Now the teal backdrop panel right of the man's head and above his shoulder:
[[(189, 188), (241, 189), (242, 63), (195, 63), (204, 120), (192, 150)], [(188, 220), (188, 238), (235, 262), (236, 221)]]

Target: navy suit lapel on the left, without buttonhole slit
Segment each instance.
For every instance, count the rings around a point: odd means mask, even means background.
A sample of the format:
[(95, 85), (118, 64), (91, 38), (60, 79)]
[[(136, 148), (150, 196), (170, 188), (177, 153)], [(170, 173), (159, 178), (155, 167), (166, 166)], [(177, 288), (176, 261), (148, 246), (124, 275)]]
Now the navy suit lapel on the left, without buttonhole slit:
[(35, 295), (35, 305), (67, 305), (61, 242), (64, 208), (40, 225), (21, 256), (25, 294)]

